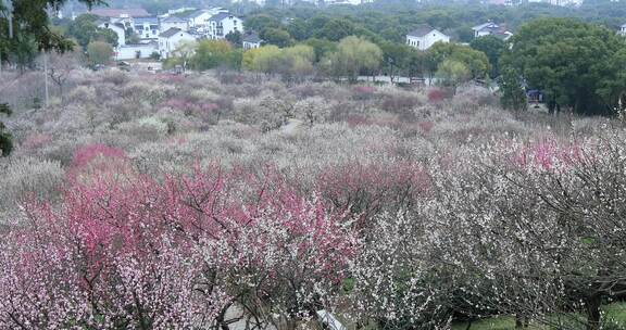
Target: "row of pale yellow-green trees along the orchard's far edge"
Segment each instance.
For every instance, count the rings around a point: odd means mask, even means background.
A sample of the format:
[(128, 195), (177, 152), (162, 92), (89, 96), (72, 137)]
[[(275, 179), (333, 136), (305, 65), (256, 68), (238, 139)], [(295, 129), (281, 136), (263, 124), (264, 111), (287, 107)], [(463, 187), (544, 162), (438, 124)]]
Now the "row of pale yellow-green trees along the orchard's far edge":
[[(437, 76), (442, 84), (456, 87), (470, 79), (484, 79), (491, 64), (481, 51), (456, 43), (437, 43), (427, 52), (406, 48), (399, 63), (408, 72), (396, 75)], [(355, 80), (360, 75), (380, 74), (386, 63), (384, 51), (364, 37), (349, 36), (339, 42), (309, 39), (292, 47), (274, 45), (242, 51), (223, 40), (181, 43), (166, 66), (184, 65), (192, 69), (243, 68), (264, 74), (279, 74), (287, 80), (303, 79), (313, 74)], [(393, 61), (390, 60), (393, 64)], [(405, 64), (404, 64), (405, 63)], [(393, 77), (393, 75), (392, 75)]]

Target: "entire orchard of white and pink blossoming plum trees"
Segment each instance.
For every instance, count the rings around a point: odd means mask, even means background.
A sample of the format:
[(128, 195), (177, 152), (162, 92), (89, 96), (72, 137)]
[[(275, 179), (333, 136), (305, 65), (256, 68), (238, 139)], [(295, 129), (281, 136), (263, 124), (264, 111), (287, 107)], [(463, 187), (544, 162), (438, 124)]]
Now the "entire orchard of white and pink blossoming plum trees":
[(619, 120), (224, 75), (8, 87), (0, 329), (622, 329)]

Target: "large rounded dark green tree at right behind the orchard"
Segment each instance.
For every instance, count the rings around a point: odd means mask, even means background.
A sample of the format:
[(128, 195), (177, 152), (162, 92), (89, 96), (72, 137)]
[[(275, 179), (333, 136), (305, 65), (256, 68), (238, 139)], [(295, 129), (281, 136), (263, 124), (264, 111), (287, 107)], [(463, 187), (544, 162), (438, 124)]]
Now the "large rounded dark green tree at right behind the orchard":
[(573, 18), (539, 18), (523, 25), (512, 38), (503, 65), (517, 69), (528, 86), (546, 94), (549, 107), (577, 113), (610, 113), (624, 90), (616, 56), (624, 38), (594, 24)]

